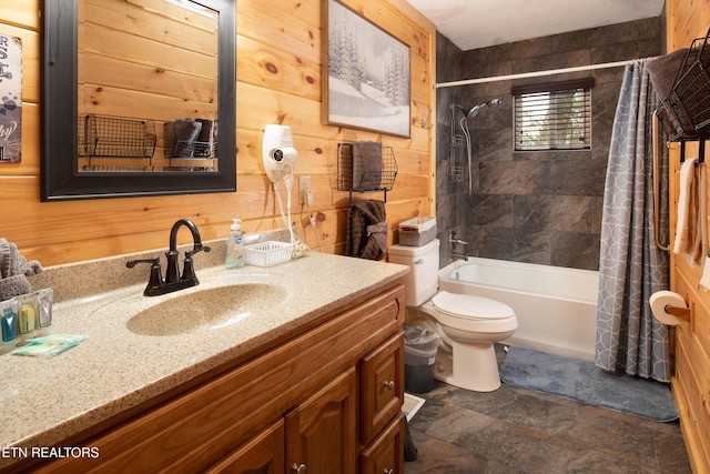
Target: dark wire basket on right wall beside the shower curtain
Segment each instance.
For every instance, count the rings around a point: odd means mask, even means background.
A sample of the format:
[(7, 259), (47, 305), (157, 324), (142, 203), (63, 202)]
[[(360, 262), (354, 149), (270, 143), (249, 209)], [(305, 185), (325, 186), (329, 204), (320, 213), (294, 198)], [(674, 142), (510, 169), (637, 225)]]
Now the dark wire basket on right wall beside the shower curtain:
[(697, 140), (710, 131), (710, 29), (692, 41), (676, 73), (669, 95), (661, 100), (659, 120), (671, 141)]

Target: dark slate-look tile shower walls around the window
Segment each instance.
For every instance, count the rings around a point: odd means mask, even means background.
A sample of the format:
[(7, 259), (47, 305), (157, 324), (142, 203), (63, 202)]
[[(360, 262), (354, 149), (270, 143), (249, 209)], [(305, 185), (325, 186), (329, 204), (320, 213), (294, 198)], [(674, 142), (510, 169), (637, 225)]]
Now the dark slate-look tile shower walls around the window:
[[(623, 61), (661, 52), (658, 18), (460, 51), (437, 33), (437, 82)], [(611, 125), (623, 68), (437, 89), (437, 225), (442, 262), (448, 234), (470, 242), (474, 256), (598, 270), (601, 208)], [(586, 151), (513, 152), (511, 85), (594, 77), (592, 147)], [(449, 181), (450, 103), (491, 98), (496, 109), (468, 121), (474, 192)], [(457, 119), (460, 114), (457, 115)], [(460, 133), (460, 131), (459, 131)], [(456, 150), (458, 164), (466, 149)]]

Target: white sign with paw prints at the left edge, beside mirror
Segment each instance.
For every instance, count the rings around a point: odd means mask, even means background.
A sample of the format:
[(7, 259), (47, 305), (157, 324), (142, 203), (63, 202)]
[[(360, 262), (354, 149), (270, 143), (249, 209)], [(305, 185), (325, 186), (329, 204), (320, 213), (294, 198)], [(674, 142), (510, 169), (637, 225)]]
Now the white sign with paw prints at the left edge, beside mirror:
[(22, 160), (22, 40), (0, 33), (0, 163)]

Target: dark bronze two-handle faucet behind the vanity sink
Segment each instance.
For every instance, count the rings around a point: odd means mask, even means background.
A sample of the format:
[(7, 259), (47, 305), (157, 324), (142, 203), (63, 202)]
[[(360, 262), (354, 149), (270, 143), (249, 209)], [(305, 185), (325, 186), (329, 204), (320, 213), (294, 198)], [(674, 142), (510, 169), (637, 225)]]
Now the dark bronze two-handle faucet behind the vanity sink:
[[(192, 233), (192, 251), (185, 252), (185, 260), (183, 262), (182, 275), (180, 274), (180, 264), (178, 262), (178, 231), (181, 226), (186, 226)], [(200, 231), (197, 226), (189, 219), (180, 219), (173, 224), (170, 231), (170, 248), (165, 252), (168, 259), (168, 268), (165, 270), (165, 280), (163, 280), (162, 270), (160, 266), (160, 256), (146, 260), (131, 260), (126, 262), (125, 266), (132, 269), (138, 263), (150, 263), (151, 275), (148, 281), (148, 286), (143, 294), (145, 296), (158, 296), (160, 294), (172, 293), (173, 291), (183, 290), (190, 286), (196, 286), (200, 284), (197, 275), (195, 274), (194, 263), (192, 255), (197, 252), (209, 252), (210, 248), (202, 244), (200, 238)]]

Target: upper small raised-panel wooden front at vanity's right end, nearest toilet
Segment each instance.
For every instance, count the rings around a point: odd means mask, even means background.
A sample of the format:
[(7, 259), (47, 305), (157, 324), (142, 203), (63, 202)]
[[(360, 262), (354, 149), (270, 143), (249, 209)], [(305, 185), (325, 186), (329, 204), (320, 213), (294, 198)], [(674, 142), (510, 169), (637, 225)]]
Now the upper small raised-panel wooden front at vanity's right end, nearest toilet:
[(404, 335), (398, 332), (363, 357), (362, 442), (364, 445), (402, 413), (404, 403)]

